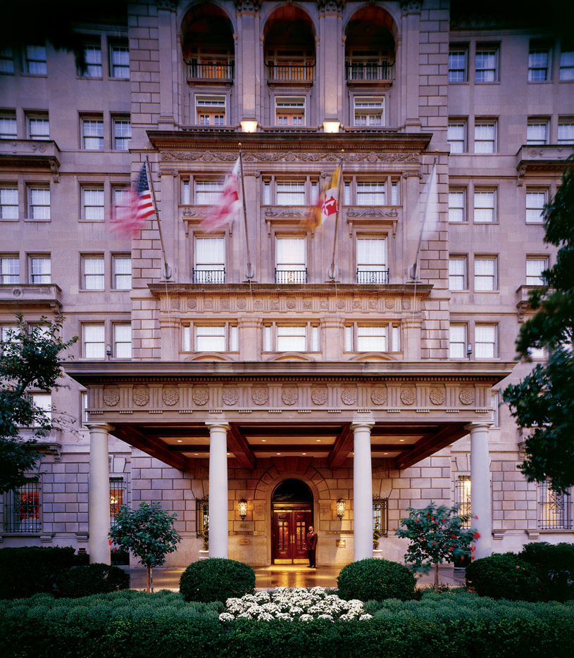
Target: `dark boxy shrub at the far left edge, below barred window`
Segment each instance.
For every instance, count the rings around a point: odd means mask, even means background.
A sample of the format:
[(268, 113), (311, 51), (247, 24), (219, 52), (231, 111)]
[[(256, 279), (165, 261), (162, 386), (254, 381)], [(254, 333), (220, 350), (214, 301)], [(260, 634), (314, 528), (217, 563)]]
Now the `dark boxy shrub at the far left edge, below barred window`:
[(56, 578), (73, 567), (76, 559), (70, 546), (0, 549), (0, 599), (54, 592)]

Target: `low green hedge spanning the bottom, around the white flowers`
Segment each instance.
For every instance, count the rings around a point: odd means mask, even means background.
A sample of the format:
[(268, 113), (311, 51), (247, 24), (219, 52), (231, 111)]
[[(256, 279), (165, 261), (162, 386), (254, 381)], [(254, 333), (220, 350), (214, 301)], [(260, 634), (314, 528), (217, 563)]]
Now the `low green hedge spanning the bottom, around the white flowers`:
[(2, 658), (570, 658), (574, 605), (470, 593), (366, 604), (373, 619), (218, 621), (220, 602), (123, 591), (0, 602)]

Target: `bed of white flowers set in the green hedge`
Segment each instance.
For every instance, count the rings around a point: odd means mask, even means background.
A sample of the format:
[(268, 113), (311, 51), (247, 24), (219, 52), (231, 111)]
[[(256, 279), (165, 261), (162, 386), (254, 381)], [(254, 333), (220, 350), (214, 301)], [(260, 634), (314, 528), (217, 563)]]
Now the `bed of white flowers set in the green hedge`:
[(336, 594), (327, 594), (322, 587), (294, 588), (277, 587), (271, 592), (246, 594), (240, 599), (227, 599), (225, 612), (219, 616), (220, 621), (234, 619), (256, 619), (258, 621), (365, 621), (371, 619), (366, 614), (363, 602), (344, 601)]

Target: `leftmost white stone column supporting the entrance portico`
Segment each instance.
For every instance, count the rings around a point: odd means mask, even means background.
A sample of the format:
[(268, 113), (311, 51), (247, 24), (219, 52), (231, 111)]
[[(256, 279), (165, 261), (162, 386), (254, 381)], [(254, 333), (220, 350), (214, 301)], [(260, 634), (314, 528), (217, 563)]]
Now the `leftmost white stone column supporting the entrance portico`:
[(110, 469), (107, 423), (87, 423), (89, 429), (88, 531), (89, 562), (110, 564)]

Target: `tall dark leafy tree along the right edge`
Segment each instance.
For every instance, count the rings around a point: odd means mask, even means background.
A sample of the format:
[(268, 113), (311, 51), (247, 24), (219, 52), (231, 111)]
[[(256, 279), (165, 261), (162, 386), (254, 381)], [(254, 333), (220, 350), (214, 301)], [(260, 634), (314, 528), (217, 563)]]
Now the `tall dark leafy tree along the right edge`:
[(531, 348), (544, 348), (548, 360), (507, 386), (503, 399), (517, 424), (530, 429), (520, 470), (529, 481), (550, 478), (552, 488), (564, 492), (574, 485), (574, 167), (547, 205), (544, 228), (544, 241), (559, 251), (543, 272), (545, 285), (530, 293), (537, 312), (520, 327), (516, 350), (529, 361)]

